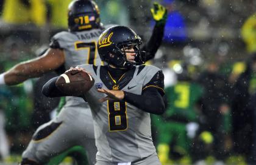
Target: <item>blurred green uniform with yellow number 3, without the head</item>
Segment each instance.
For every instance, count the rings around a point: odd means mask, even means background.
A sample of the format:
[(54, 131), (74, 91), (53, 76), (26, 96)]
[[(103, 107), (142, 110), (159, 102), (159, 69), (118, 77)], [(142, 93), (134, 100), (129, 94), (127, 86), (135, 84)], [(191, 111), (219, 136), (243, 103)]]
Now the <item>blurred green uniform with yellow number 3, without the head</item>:
[(163, 116), (153, 118), (159, 131), (157, 149), (163, 165), (168, 162), (170, 152), (178, 153), (180, 156), (188, 155), (190, 139), (187, 136), (186, 125), (197, 120), (194, 105), (203, 93), (199, 84), (189, 81), (178, 81), (176, 85), (165, 90), (168, 109)]

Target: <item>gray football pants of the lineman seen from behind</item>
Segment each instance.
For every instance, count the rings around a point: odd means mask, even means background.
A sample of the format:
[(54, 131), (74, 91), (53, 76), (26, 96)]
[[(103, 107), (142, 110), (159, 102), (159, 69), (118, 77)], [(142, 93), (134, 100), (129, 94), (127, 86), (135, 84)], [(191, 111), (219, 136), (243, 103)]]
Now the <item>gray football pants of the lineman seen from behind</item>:
[(33, 137), (42, 134), (42, 130), (51, 128), (56, 123), (59, 123), (59, 125), (57, 124), (58, 127), (51, 130), (51, 132), (48, 131), (48, 133), (44, 131), (46, 135), (39, 140), (33, 138), (23, 152), (22, 157), (41, 164), (48, 162), (52, 157), (70, 147), (83, 146), (87, 150), (88, 161), (90, 161), (90, 164), (94, 164), (97, 148), (90, 109), (63, 107), (59, 115), (53, 120), (38, 127)]

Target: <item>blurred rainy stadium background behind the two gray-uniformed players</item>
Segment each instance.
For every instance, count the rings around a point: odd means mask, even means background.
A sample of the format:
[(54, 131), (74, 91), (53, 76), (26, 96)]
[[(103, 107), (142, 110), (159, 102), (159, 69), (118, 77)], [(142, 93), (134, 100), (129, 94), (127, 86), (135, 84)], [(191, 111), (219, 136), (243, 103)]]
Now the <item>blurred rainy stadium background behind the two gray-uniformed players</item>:
[[(70, 1), (0, 1), (1, 72), (40, 55), (52, 35), (67, 29)], [(95, 2), (103, 24), (128, 25), (149, 39), (154, 1)], [(256, 1), (157, 2), (169, 11), (163, 44), (148, 62), (163, 69), (170, 99), (165, 115), (152, 116), (163, 164), (256, 164)], [(0, 88), (0, 137), (5, 131), (9, 144), (0, 143), (0, 164), (20, 161), (34, 130), (49, 120), (44, 113), (58, 102), (46, 102), (35, 114), (37, 80)]]

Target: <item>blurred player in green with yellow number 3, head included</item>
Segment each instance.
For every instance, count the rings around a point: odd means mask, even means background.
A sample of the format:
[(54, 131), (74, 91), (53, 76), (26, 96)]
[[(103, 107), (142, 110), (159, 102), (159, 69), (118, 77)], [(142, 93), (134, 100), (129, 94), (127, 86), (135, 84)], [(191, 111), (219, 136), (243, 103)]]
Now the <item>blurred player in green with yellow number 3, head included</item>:
[(181, 73), (176, 73), (177, 83), (165, 88), (168, 106), (162, 116), (153, 116), (158, 129), (157, 150), (161, 163), (174, 160), (191, 164), (191, 141), (199, 127), (197, 122), (197, 102), (202, 96), (202, 87), (193, 80), (188, 64), (180, 64)]

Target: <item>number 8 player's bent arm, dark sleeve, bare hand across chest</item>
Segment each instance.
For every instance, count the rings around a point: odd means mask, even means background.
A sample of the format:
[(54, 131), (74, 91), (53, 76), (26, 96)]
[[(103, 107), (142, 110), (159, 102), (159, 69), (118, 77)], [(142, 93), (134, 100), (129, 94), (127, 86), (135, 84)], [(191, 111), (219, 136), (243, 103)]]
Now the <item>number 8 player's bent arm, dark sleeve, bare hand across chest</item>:
[(107, 99), (124, 100), (145, 112), (161, 115), (165, 112), (167, 105), (163, 79), (163, 72), (158, 71), (151, 81), (143, 87), (141, 95), (123, 90), (98, 89), (98, 92), (107, 94), (105, 98), (101, 98), (99, 101), (103, 102)]

